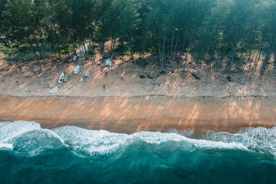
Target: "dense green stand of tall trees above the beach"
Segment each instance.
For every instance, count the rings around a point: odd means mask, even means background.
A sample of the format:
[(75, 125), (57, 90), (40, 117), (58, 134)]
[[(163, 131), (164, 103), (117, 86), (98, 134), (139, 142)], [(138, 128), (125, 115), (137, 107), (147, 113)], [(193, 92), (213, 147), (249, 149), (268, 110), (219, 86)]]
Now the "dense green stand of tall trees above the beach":
[[(275, 0), (0, 0), (0, 52), (6, 62), (25, 65), (32, 54), (40, 66), (53, 61), (105, 58), (106, 41), (144, 67), (146, 54), (161, 71), (193, 65), (215, 71), (224, 62), (231, 76), (235, 62), (275, 62)], [(75, 52), (76, 54), (76, 52)], [(139, 58), (133, 57), (139, 54)]]

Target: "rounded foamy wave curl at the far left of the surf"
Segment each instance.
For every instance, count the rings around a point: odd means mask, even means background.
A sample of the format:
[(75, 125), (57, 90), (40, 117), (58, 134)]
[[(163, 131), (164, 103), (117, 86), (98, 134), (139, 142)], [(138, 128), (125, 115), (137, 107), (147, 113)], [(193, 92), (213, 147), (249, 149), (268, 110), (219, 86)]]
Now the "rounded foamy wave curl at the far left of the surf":
[(42, 129), (39, 123), (27, 121), (14, 121), (2, 125), (0, 144), (30, 156), (66, 146), (55, 132)]

